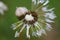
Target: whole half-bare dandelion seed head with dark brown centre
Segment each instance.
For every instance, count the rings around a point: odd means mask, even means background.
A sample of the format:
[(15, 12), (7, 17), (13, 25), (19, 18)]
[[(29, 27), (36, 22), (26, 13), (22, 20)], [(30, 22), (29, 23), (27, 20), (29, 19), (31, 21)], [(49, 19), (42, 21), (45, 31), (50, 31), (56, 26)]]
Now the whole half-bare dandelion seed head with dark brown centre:
[[(23, 17), (21, 18), (22, 22), (19, 22), (18, 26), (21, 26), (20, 24), (22, 23), (23, 27), (19, 29), (20, 32), (15, 33), (15, 37), (18, 37), (24, 28), (26, 28), (26, 37), (29, 39), (31, 34), (32, 36), (40, 37), (43, 34), (46, 35), (46, 31), (50, 31), (52, 29), (49, 23), (54, 22), (53, 19), (56, 18), (56, 15), (53, 11), (54, 8), (48, 9), (48, 6), (46, 6), (48, 3), (49, 0), (32, 0), (32, 8), (35, 8), (33, 11), (28, 10), (25, 7), (17, 7), (16, 16), (19, 18)], [(40, 4), (42, 6), (40, 6)], [(29, 32), (30, 28), (32, 29), (31, 34)], [(16, 27), (13, 27), (13, 29), (16, 29)]]

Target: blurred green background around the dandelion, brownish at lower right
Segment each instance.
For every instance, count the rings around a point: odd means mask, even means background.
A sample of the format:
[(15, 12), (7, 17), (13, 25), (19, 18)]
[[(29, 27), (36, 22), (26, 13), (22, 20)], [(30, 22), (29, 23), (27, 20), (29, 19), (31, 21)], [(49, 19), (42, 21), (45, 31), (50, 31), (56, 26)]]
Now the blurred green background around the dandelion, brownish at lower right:
[[(8, 6), (8, 11), (5, 12), (4, 16), (0, 15), (0, 40), (28, 40), (26, 38), (19, 39), (14, 38), (14, 33), (11, 29), (11, 24), (18, 21), (15, 16), (16, 7), (25, 6), (28, 9), (31, 8), (31, 0), (0, 0), (3, 1)], [(48, 34), (49, 36), (42, 38), (42, 40), (60, 40), (60, 0), (50, 0), (49, 7), (55, 8), (55, 14), (57, 18), (55, 19), (56, 26), (54, 33)], [(54, 34), (54, 35), (53, 35)], [(40, 40), (38, 38), (32, 38), (30, 40)]]

